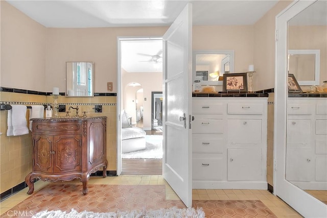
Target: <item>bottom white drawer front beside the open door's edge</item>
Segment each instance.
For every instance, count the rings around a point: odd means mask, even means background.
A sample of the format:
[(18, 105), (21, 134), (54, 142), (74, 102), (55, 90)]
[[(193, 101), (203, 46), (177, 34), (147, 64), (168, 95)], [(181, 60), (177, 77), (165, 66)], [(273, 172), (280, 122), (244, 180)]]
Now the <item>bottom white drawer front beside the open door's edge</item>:
[(221, 180), (222, 166), (222, 159), (193, 158), (193, 180)]

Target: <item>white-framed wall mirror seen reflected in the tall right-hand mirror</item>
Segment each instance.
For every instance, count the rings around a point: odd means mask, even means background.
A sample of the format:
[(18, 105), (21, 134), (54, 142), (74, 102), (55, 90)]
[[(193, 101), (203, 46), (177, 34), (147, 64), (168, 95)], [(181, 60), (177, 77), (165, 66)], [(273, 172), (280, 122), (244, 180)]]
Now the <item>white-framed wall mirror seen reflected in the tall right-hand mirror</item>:
[(287, 66), (299, 85), (319, 85), (320, 50), (289, 50)]

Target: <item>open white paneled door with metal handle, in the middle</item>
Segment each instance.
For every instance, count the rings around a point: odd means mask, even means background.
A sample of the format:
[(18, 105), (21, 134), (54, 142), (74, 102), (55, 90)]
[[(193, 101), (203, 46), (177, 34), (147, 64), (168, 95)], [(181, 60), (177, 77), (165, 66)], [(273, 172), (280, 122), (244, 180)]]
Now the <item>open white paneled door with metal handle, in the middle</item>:
[(192, 207), (192, 5), (188, 4), (163, 37), (164, 128), (162, 173)]

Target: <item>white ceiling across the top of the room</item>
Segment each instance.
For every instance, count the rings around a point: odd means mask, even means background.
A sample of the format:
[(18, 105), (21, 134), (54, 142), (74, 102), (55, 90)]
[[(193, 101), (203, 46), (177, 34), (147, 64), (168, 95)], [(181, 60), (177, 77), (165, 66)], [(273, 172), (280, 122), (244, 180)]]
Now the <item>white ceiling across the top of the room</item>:
[(253, 25), (278, 1), (7, 0), (49, 28), (169, 26), (187, 3), (193, 25)]

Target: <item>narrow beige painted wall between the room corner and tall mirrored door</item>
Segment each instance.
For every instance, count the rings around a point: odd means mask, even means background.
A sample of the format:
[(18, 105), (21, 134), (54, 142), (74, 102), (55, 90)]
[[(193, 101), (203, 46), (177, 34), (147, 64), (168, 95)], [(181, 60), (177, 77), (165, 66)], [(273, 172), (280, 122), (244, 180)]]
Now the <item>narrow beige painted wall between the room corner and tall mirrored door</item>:
[(292, 2), (279, 1), (254, 24), (253, 90), (275, 87), (275, 17)]

